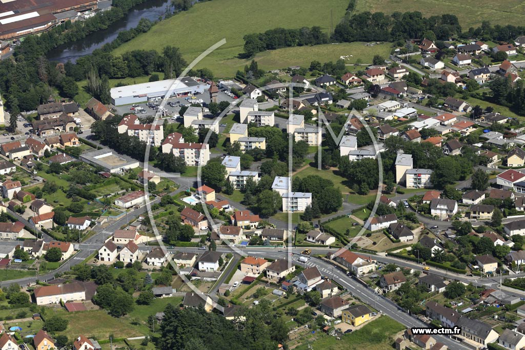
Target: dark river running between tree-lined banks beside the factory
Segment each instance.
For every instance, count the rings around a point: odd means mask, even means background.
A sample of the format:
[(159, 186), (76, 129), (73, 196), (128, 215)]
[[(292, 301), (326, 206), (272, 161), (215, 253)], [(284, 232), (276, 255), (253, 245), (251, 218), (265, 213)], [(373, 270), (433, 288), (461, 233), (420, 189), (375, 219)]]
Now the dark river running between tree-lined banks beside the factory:
[[(119, 31), (134, 28), (141, 18), (148, 18), (152, 22), (165, 14), (166, 5), (171, 0), (149, 0), (133, 7), (128, 14), (107, 29), (96, 31), (81, 40), (58, 46), (47, 55), (50, 61), (75, 62), (79, 57), (91, 54), (106, 43), (117, 38)], [(139, 48), (140, 49), (140, 48)]]

